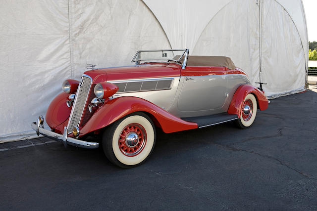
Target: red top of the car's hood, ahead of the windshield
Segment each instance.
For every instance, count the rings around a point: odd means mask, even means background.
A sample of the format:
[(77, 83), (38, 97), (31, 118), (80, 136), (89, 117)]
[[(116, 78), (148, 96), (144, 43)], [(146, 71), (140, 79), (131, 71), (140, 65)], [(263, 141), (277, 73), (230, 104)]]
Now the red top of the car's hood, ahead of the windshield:
[(148, 63), (134, 66), (110, 67), (86, 71), (84, 74), (97, 84), (105, 81), (130, 80), (144, 78), (163, 78), (180, 76), (178, 64)]

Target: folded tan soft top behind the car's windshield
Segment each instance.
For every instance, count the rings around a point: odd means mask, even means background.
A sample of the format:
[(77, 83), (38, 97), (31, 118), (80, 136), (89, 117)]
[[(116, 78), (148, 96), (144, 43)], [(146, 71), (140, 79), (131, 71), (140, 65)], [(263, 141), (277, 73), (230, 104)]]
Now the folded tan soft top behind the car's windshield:
[[(173, 59), (177, 60), (179, 55)], [(179, 60), (179, 63), (183, 63), (184, 56)], [(234, 70), (236, 66), (232, 60), (226, 56), (188, 56), (187, 66), (210, 66), (210, 67), (227, 67), (230, 70)]]

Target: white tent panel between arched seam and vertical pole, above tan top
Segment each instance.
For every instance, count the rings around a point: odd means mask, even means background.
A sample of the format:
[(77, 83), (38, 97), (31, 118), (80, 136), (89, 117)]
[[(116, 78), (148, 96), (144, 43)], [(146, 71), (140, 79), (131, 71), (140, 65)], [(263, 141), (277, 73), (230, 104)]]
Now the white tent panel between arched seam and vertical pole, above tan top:
[(225, 4), (201, 33), (192, 54), (229, 56), (247, 72), (252, 84), (259, 82), (259, 17), (255, 1), (233, 0)]

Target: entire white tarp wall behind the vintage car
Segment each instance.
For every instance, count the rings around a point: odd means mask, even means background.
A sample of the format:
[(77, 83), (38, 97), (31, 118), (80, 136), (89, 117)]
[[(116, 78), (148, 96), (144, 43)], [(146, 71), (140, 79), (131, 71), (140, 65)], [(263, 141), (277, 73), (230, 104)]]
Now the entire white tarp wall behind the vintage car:
[(30, 123), (86, 64), (131, 65), (138, 49), (229, 56), (271, 97), (306, 81), (301, 0), (2, 0), (0, 14), (0, 142), (35, 137)]

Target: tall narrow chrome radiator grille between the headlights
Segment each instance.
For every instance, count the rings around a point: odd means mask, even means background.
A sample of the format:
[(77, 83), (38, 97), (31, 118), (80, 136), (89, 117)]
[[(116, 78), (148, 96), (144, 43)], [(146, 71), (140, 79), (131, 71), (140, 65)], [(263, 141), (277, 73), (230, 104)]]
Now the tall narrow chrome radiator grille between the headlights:
[(67, 125), (68, 133), (71, 133), (71, 131), (73, 130), (75, 126), (79, 126), (81, 117), (83, 115), (83, 111), (86, 106), (86, 101), (89, 95), (91, 84), (92, 84), (92, 79), (89, 76), (84, 75), (81, 78), (81, 83), (78, 86), (74, 104), (71, 109), (69, 120), (68, 120), (68, 125)]

